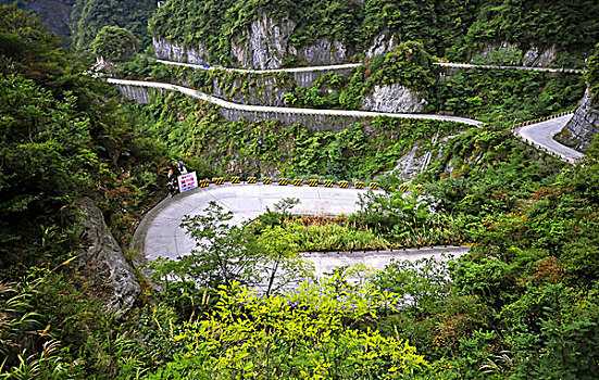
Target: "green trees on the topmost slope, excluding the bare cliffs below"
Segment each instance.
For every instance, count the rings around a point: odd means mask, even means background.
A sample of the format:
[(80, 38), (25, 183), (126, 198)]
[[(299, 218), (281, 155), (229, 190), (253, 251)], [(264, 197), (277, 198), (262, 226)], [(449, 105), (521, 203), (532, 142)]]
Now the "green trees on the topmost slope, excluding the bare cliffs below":
[(438, 56), (464, 61), (498, 42), (517, 46), (514, 61), (531, 47), (556, 45), (560, 62), (573, 64), (572, 53), (584, 59), (599, 41), (599, 5), (594, 1), (172, 0), (153, 15), (150, 30), (187, 47), (201, 42), (213, 62), (232, 64), (232, 43), (264, 14), (295, 22), (290, 43), (296, 47), (329, 38), (353, 52), (365, 51), (384, 35), (398, 42), (419, 41)]

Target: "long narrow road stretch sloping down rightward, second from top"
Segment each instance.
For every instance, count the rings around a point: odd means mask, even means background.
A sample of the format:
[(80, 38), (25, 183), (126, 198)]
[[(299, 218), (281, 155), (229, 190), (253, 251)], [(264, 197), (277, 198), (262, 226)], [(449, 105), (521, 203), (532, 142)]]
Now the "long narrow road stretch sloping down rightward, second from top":
[(387, 116), (387, 117), (399, 117), (399, 118), (417, 118), (417, 119), (432, 119), (432, 121), (440, 121), (440, 122), (453, 122), (453, 123), (472, 125), (476, 127), (483, 126), (483, 122), (479, 122), (479, 121), (475, 121), (466, 117), (445, 116), (445, 115), (396, 114), (396, 113), (371, 112), (371, 111), (316, 110), (316, 109), (297, 109), (297, 107), (286, 107), (286, 106), (247, 105), (247, 104), (228, 102), (226, 100), (222, 100), (220, 98), (212, 97), (200, 91), (196, 91), (191, 88), (177, 86), (177, 85), (163, 84), (158, 81), (125, 80), (125, 79), (114, 79), (114, 78), (108, 78), (107, 81), (112, 85), (138, 86), (138, 87), (164, 89), (169, 91), (178, 91), (189, 97), (194, 97), (229, 110), (240, 110), (240, 111), (250, 111), (250, 112), (288, 113), (288, 114), (307, 114), (307, 115), (351, 116), (351, 117)]

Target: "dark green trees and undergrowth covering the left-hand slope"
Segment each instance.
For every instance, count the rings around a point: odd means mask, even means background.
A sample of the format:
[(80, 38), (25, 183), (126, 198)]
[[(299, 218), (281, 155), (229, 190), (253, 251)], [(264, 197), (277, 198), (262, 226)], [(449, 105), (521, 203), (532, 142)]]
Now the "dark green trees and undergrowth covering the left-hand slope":
[(0, 7), (0, 39), (1, 377), (135, 373), (132, 356), (152, 352), (132, 349), (136, 327), (118, 330), (101, 287), (75, 265), (74, 200), (93, 198), (126, 244), (132, 221), (163, 195), (166, 151), (38, 21)]

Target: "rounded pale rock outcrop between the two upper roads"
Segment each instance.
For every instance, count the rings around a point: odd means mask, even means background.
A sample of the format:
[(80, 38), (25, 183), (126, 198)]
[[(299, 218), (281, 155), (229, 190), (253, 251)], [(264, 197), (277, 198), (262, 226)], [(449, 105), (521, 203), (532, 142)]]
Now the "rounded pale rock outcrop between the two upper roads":
[(428, 102), (424, 93), (413, 91), (398, 84), (375, 86), (371, 94), (362, 98), (360, 107), (364, 111), (392, 113), (421, 113)]

